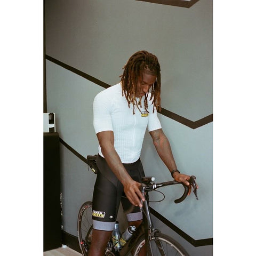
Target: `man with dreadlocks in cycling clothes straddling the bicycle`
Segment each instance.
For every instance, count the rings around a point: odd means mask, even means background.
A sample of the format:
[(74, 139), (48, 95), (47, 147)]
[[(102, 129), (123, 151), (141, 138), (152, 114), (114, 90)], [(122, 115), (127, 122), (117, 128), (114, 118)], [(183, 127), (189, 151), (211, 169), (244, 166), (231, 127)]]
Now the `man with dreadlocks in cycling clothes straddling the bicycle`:
[[(97, 165), (100, 173), (93, 193), (93, 233), (89, 256), (102, 256), (114, 229), (121, 196), (130, 226), (142, 221), (140, 184), (143, 167), (140, 152), (146, 128), (158, 155), (172, 177), (189, 185), (190, 176), (177, 170), (170, 143), (157, 117), (161, 110), (161, 74), (155, 55), (134, 53), (124, 66), (121, 82), (96, 95), (93, 102), (93, 125), (99, 141)], [(150, 92), (149, 92), (150, 91)], [(190, 194), (191, 187), (189, 188)]]

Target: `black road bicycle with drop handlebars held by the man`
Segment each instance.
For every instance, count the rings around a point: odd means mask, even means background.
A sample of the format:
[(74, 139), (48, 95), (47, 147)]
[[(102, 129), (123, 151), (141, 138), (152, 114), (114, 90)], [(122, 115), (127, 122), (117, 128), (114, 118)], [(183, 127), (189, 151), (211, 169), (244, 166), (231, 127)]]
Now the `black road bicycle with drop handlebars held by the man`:
[[(87, 157), (88, 158), (88, 157)], [(97, 172), (97, 165), (95, 162), (95, 157), (89, 156), (89, 163), (88, 165), (91, 169), (94, 169)], [(196, 189), (196, 177), (192, 175), (190, 177), (189, 183), (194, 189), (194, 194), (197, 197), (197, 189)], [(141, 184), (141, 191), (142, 194), (145, 196), (145, 201), (143, 202), (142, 206), (142, 213), (143, 213), (143, 220), (141, 225), (135, 230), (134, 234), (132, 235), (131, 239), (129, 239), (124, 247), (121, 250), (116, 250), (116, 247), (113, 243), (113, 240), (110, 238), (108, 245), (106, 247), (105, 256), (138, 256), (139, 252), (146, 248), (147, 255), (149, 256), (156, 256), (156, 255), (180, 255), (180, 256), (189, 256), (187, 251), (172, 237), (162, 234), (160, 230), (154, 228), (153, 222), (150, 217), (150, 208), (149, 208), (149, 191), (154, 191), (157, 188), (170, 186), (170, 185), (183, 185), (184, 193), (183, 195), (174, 200), (174, 203), (181, 203), (188, 194), (189, 187), (181, 182), (177, 182), (175, 180), (166, 181), (161, 183), (155, 183), (154, 177), (143, 177), (142, 184)], [(159, 191), (158, 191), (159, 192)], [(162, 192), (160, 192), (162, 193)], [(162, 193), (163, 194), (163, 193)], [(164, 195), (164, 194), (163, 194)], [(164, 198), (163, 198), (164, 199)], [(162, 199), (162, 200), (163, 200)], [(161, 200), (161, 201), (162, 201)], [(91, 244), (91, 235), (92, 235), (92, 202), (87, 201), (85, 202), (78, 213), (78, 220), (77, 220), (77, 230), (78, 230), (78, 242), (81, 248), (83, 256), (87, 256), (90, 244)], [(146, 246), (146, 247), (144, 247)]]

